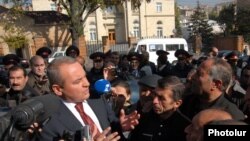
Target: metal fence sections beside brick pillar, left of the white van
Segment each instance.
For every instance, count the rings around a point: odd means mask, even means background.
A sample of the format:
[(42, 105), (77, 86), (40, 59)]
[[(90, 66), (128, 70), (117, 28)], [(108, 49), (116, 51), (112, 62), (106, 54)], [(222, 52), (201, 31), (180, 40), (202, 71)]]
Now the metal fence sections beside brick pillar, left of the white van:
[[(87, 41), (87, 56), (94, 52), (103, 52), (103, 45), (102, 41)], [(129, 51), (129, 44), (128, 43), (117, 43), (115, 45), (110, 46), (111, 51), (117, 51), (120, 54), (127, 54)]]

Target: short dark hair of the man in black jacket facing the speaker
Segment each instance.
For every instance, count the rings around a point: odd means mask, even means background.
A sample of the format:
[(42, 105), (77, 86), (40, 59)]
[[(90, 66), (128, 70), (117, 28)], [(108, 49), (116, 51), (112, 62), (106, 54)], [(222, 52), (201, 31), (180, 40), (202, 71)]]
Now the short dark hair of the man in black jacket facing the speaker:
[(164, 89), (170, 88), (173, 92), (173, 100), (178, 101), (183, 99), (183, 94), (185, 91), (185, 85), (176, 76), (168, 76), (158, 80), (157, 87)]

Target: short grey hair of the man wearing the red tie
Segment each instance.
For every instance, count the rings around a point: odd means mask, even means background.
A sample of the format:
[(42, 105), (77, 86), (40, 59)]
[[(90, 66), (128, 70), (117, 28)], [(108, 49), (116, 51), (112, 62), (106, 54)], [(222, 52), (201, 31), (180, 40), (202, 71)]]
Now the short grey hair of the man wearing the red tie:
[(47, 69), (47, 75), (49, 78), (50, 85), (57, 84), (59, 86), (63, 86), (64, 81), (63, 77), (61, 76), (60, 66), (64, 64), (73, 64), (77, 61), (72, 57), (58, 57), (54, 59), (49, 65)]

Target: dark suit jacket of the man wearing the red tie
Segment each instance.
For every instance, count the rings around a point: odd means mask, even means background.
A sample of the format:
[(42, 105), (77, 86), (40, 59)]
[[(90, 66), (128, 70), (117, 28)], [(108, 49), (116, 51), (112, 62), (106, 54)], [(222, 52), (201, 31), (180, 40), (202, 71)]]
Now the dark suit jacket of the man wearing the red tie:
[[(121, 126), (114, 112), (107, 105), (103, 97), (87, 100), (88, 104), (96, 114), (102, 129), (111, 126), (113, 131), (121, 132)], [(40, 141), (58, 141), (58, 139), (69, 139), (80, 141), (82, 138), (82, 124), (73, 113), (61, 102), (58, 110), (51, 116), (51, 119), (44, 125), (43, 131), (38, 136)], [(73, 138), (73, 139), (71, 139)]]

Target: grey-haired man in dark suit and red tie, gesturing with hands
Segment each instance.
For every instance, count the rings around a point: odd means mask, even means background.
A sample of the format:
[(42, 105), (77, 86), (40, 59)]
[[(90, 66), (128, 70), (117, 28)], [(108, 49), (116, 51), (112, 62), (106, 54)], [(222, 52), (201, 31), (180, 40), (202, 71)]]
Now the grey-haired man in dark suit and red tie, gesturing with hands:
[[(69, 140), (69, 138), (77, 140), (78, 133), (81, 133), (87, 125), (78, 109), (75, 108), (79, 103), (82, 104), (85, 114), (94, 122), (93, 126), (89, 124), (94, 140), (104, 140), (104, 138), (105, 140), (119, 140), (122, 130), (130, 130), (138, 124), (139, 115), (136, 112), (125, 116), (124, 111), (121, 111), (118, 120), (102, 97), (88, 99), (90, 84), (86, 72), (75, 59), (62, 57), (53, 60), (48, 66), (48, 77), (53, 92), (61, 98), (61, 104), (51, 116), (50, 121), (44, 125), (38, 137), (39, 140)], [(114, 133), (107, 134), (110, 130), (109, 126)], [(81, 134), (78, 140), (82, 140)]]

